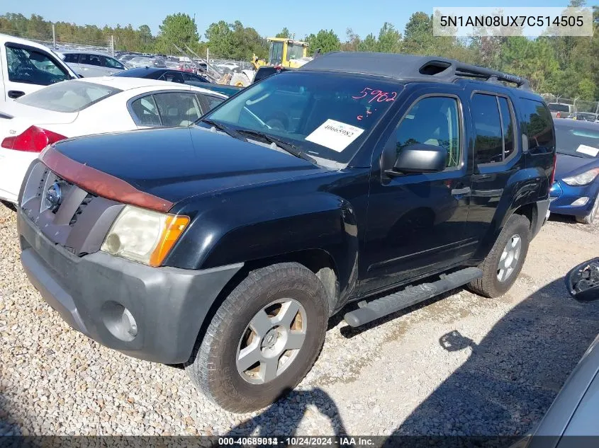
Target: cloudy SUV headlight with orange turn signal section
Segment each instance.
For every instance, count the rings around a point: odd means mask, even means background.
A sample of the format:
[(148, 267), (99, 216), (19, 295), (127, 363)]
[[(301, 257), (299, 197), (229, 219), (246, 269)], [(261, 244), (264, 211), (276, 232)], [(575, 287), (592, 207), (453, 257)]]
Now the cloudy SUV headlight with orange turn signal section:
[(100, 250), (146, 265), (159, 266), (187, 224), (189, 217), (125, 205)]

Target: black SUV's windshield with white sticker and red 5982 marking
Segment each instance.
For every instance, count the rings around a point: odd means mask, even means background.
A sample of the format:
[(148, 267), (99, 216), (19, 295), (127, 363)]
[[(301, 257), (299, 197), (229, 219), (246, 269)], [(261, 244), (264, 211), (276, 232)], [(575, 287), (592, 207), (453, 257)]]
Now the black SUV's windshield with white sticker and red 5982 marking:
[(241, 91), (206, 118), (347, 163), (402, 89), (372, 77), (286, 71)]

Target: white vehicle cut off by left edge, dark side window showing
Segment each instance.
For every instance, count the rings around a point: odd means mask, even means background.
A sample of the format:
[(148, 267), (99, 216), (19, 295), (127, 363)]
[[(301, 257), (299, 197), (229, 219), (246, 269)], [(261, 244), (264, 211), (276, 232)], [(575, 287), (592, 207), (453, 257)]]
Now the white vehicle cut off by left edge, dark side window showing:
[(4, 103), (77, 74), (47, 47), (0, 34), (0, 112)]

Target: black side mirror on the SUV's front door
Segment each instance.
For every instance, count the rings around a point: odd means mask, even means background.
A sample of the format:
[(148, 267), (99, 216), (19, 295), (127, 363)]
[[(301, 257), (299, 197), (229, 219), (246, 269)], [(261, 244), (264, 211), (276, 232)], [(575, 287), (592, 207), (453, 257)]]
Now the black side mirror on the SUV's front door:
[(447, 149), (416, 143), (403, 148), (397, 156), (394, 173), (437, 173), (447, 164)]

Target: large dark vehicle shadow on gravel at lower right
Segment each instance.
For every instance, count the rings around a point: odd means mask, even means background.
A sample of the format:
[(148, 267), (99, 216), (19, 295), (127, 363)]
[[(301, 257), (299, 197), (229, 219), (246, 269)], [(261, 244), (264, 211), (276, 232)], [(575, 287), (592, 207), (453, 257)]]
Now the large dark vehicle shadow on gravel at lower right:
[(468, 360), (388, 442), (405, 435), (521, 437), (547, 412), (597, 336), (598, 321), (599, 302), (578, 303), (561, 278), (514, 306), (478, 344), (467, 337), (468, 328), (442, 335), (444, 350), (471, 350)]

